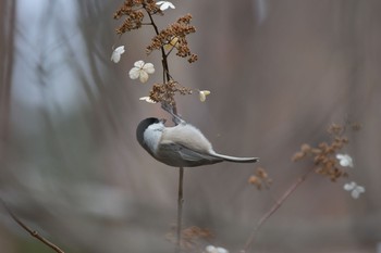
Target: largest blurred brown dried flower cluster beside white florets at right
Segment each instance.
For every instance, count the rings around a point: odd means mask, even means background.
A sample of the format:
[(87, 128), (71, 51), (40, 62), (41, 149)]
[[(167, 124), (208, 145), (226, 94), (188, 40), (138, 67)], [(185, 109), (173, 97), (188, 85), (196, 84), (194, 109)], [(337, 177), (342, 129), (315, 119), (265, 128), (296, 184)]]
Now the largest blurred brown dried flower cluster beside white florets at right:
[(328, 132), (332, 137), (330, 143), (321, 142), (316, 148), (304, 143), (300, 147), (300, 151), (296, 152), (292, 160), (296, 162), (311, 157), (317, 167), (316, 173), (329, 177), (332, 181), (336, 181), (341, 177), (346, 177), (348, 175), (347, 172), (340, 166), (336, 159), (337, 151), (348, 143), (344, 131), (344, 126), (336, 124), (330, 126), (328, 129)]

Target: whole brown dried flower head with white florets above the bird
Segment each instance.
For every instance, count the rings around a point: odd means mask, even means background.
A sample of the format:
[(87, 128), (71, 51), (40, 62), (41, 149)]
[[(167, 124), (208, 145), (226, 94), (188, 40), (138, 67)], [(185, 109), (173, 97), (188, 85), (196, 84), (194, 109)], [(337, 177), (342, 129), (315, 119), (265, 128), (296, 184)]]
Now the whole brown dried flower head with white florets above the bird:
[[(138, 29), (143, 25), (150, 25), (153, 27), (156, 35), (151, 39), (150, 45), (146, 47), (146, 53), (149, 54), (153, 50), (161, 51), (164, 84), (155, 84), (149, 97), (143, 97), (140, 100), (149, 103), (161, 102), (162, 104), (173, 106), (175, 105), (175, 93), (192, 94), (192, 89), (181, 87), (172, 79), (169, 73), (167, 59), (172, 51), (176, 51), (177, 56), (187, 58), (189, 63), (197, 61), (197, 55), (190, 52), (186, 39), (186, 36), (195, 33), (196, 28), (190, 25), (192, 15), (186, 14), (180, 17), (175, 23), (170, 24), (167, 28), (159, 30), (152, 15), (163, 15), (163, 11), (168, 9), (175, 9), (175, 7), (170, 1), (157, 2), (155, 0), (125, 0), (123, 5), (115, 11), (114, 18), (119, 20), (126, 16), (123, 24), (116, 28), (116, 34), (119, 35), (133, 29)], [(144, 23), (145, 15), (148, 16), (146, 18), (146, 23)], [(111, 60), (115, 63), (119, 62), (123, 52), (121, 49), (114, 51)], [(153, 64), (145, 63), (143, 60), (139, 60), (135, 62), (134, 67), (131, 68), (128, 75), (132, 79), (139, 79), (140, 83), (147, 83), (149, 74), (153, 73)], [(199, 90), (200, 101), (204, 102), (206, 100), (206, 96), (209, 93), (210, 91), (208, 90)]]

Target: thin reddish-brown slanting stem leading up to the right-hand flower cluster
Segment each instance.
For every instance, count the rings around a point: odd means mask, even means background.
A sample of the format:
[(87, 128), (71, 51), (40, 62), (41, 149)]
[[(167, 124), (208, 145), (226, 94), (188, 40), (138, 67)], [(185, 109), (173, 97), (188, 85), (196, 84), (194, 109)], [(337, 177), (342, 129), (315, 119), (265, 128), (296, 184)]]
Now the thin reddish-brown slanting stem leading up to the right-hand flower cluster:
[(258, 220), (256, 227), (254, 228), (250, 237), (248, 238), (244, 249), (241, 251), (241, 253), (245, 253), (250, 245), (254, 243), (258, 230), (261, 228), (261, 226), (265, 224), (266, 220), (268, 220), (273, 213), (281, 207), (281, 205), (288, 199), (288, 197), (297, 189), (298, 186), (302, 185), (307, 178), (307, 176), (314, 170), (314, 168), (308, 169), (307, 173), (305, 173), (303, 176), (296, 179), (296, 181), (283, 193), (283, 195), (275, 202), (275, 204)]

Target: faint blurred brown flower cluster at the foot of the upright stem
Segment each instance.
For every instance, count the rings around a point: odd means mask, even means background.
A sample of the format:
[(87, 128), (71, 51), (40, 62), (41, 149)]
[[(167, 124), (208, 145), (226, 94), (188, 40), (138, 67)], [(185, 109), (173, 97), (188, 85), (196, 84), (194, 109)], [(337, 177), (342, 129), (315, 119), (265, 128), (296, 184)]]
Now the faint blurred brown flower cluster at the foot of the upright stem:
[[(175, 242), (175, 227), (172, 228), (173, 231), (167, 235), (167, 239), (171, 242)], [(200, 252), (201, 241), (211, 239), (213, 236), (209, 229), (199, 228), (197, 226), (192, 226), (182, 230), (182, 241), (181, 248), (186, 250), (186, 252)]]

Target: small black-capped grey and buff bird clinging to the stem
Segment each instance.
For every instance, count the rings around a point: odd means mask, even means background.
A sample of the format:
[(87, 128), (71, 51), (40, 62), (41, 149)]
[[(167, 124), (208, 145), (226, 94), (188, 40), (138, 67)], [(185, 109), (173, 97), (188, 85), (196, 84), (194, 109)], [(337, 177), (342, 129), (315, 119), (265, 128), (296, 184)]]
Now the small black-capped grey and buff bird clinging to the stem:
[(181, 121), (165, 127), (164, 119), (149, 117), (139, 123), (136, 138), (156, 160), (174, 167), (195, 167), (223, 161), (255, 163), (257, 157), (234, 157), (216, 153), (209, 140), (196, 127)]

